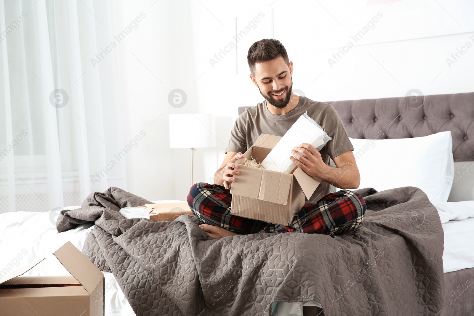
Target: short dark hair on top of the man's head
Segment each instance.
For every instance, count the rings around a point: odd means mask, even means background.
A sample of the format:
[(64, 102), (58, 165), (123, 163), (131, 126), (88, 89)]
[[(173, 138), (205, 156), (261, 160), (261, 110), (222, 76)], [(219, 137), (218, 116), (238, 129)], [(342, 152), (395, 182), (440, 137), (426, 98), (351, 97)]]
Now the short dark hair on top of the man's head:
[(268, 62), (269, 60), (278, 58), (278, 56), (282, 56), (287, 65), (290, 64), (286, 49), (279, 40), (265, 38), (255, 42), (250, 45), (247, 53), (247, 62), (250, 72), (252, 75), (255, 75), (256, 63)]

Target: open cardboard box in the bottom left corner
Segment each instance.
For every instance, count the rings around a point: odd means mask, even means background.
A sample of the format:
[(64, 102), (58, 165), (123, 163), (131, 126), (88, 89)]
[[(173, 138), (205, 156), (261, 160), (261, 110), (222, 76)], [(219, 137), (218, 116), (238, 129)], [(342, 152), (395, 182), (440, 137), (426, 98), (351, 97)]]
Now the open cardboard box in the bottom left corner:
[(71, 275), (22, 276), (45, 258), (0, 280), (0, 316), (104, 315), (104, 275), (71, 242), (53, 253)]

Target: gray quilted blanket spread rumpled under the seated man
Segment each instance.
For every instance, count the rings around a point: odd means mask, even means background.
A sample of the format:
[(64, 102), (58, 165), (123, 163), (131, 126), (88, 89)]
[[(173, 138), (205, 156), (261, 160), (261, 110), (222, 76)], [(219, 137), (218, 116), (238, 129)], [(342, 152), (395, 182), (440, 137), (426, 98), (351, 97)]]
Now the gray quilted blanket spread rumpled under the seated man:
[(359, 190), (355, 232), (238, 235), (208, 240), (195, 217), (126, 219), (150, 203), (111, 187), (63, 210), (57, 229), (96, 224), (82, 252), (112, 272), (142, 315), (270, 315), (272, 302), (320, 302), (326, 316), (437, 315), (444, 306), (444, 235), (419, 189)]

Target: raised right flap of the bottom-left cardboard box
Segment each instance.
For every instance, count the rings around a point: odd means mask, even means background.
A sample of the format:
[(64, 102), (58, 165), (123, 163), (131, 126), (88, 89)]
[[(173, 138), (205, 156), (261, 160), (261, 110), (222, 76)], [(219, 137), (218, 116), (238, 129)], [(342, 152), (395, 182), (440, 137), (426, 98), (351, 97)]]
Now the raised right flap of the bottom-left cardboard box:
[(65, 243), (53, 253), (69, 273), (81, 282), (84, 289), (92, 295), (95, 288), (102, 282), (104, 275), (87, 259), (71, 242)]

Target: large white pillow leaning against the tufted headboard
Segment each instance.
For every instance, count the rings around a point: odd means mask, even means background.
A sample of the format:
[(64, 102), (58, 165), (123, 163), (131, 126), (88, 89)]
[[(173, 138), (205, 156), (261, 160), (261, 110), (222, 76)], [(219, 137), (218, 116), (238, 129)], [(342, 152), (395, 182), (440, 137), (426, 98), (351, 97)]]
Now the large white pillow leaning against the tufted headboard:
[(446, 202), (454, 177), (451, 132), (393, 139), (349, 138), (360, 188), (377, 191), (417, 187), (430, 201)]

